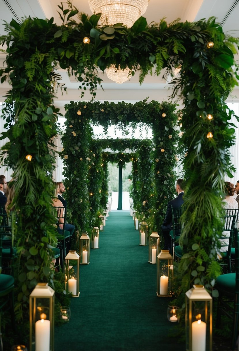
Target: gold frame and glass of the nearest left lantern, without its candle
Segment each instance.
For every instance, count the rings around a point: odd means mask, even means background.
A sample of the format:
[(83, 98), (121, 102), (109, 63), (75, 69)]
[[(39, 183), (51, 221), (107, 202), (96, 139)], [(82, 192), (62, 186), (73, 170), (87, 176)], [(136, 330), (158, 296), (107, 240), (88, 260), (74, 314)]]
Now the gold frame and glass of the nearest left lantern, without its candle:
[[(50, 322), (49, 349), (46, 349), (46, 351), (54, 351), (54, 298), (55, 291), (52, 289), (52, 287), (48, 286), (48, 283), (38, 283), (33, 289), (33, 291), (30, 293), (30, 351), (37, 351), (36, 323), (39, 321), (42, 322), (42, 320)], [(37, 316), (37, 314), (39, 314), (40, 318)]]

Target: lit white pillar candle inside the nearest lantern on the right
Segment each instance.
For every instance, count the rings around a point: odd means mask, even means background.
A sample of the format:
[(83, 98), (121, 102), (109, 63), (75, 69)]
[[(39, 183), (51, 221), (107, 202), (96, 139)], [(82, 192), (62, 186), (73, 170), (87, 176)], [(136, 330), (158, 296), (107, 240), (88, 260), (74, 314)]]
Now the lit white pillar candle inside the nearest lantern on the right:
[(206, 323), (201, 319), (192, 323), (192, 351), (206, 351)]

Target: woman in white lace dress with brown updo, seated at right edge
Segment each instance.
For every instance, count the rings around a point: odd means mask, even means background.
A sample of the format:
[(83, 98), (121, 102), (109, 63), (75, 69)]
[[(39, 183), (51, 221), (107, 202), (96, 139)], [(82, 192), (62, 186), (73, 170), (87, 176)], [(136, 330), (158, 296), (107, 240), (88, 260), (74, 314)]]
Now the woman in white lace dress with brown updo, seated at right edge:
[[(231, 210), (228, 211), (227, 213), (230, 216), (233, 216), (233, 214), (237, 214), (238, 212), (238, 202), (234, 198), (234, 193), (235, 193), (235, 188), (230, 181), (225, 181), (225, 199), (223, 200), (222, 207)], [(226, 220), (225, 225), (224, 225), (224, 231), (222, 232), (222, 236), (229, 237), (230, 236), (230, 231), (227, 231), (227, 229), (231, 228), (232, 225), (232, 218), (229, 218), (229, 220)], [(229, 239), (220, 239), (221, 245), (227, 245), (229, 243)], [(226, 252), (228, 250), (228, 246), (221, 246), (220, 251), (221, 252)]]

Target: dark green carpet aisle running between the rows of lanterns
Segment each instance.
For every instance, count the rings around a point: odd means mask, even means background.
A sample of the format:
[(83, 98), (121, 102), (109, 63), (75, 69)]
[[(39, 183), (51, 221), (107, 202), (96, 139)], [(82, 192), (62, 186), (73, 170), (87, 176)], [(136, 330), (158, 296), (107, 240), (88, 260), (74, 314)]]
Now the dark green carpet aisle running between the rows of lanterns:
[(80, 297), (71, 299), (70, 322), (55, 330), (55, 351), (184, 350), (128, 211), (110, 212), (99, 247), (80, 265)]

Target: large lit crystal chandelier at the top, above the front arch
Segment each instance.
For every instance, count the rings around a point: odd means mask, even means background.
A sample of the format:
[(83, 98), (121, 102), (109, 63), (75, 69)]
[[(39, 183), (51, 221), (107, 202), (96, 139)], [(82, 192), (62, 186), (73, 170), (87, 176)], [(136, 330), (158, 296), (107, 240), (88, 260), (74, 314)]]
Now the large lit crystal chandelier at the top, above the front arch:
[(149, 0), (88, 0), (93, 13), (101, 13), (102, 25), (123, 23), (130, 28), (143, 15)]

